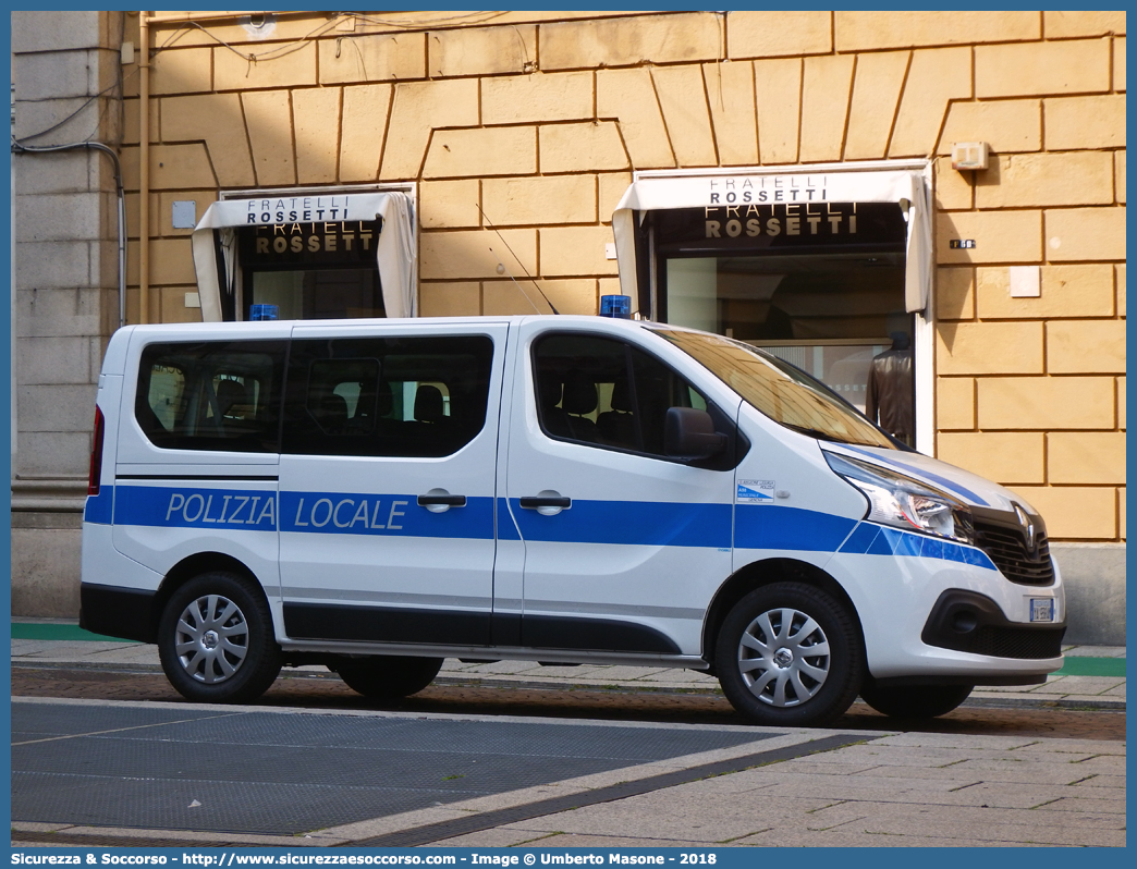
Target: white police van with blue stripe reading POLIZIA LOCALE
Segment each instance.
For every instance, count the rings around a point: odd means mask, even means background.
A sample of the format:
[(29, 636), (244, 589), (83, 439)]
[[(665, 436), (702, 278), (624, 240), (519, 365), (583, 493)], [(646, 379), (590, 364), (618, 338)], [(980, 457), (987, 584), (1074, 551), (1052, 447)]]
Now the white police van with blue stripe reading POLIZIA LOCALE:
[(1041, 682), (1041, 518), (728, 338), (530, 316), (128, 326), (99, 379), (81, 624), (193, 701), (447, 656), (715, 673), (752, 720)]

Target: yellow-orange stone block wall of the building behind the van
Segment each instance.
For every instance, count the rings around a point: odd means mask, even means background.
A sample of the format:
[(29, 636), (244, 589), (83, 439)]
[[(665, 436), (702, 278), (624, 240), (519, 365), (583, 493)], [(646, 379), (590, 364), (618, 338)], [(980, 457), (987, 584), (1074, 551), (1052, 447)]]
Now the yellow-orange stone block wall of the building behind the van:
[[(152, 318), (199, 316), (169, 208), (223, 188), (416, 182), (424, 315), (543, 311), (526, 275), (595, 313), (634, 169), (928, 158), (938, 455), (1055, 538), (1123, 539), (1124, 13), (205, 15), (151, 28)], [(952, 169), (955, 141), (988, 142), (989, 168)], [(1040, 297), (1010, 296), (1012, 266)]]

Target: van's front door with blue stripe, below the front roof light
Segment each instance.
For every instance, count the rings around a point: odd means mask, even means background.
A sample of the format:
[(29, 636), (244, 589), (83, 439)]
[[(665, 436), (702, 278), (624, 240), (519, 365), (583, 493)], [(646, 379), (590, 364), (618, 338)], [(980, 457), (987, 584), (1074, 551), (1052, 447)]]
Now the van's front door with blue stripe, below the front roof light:
[[(669, 458), (663, 435), (669, 407), (706, 397), (622, 337), (547, 321), (522, 328), (516, 379), (506, 491), (524, 544), (522, 645), (700, 654), (730, 576), (735, 475), (725, 456)], [(732, 432), (737, 399), (711, 409)]]

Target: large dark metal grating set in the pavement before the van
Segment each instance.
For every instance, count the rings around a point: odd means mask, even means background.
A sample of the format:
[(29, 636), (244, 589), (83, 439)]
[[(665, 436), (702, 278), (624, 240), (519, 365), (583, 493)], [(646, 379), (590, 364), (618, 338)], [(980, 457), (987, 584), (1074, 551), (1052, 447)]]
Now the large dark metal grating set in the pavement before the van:
[(36, 703), (13, 730), (14, 820), (277, 835), (777, 735)]

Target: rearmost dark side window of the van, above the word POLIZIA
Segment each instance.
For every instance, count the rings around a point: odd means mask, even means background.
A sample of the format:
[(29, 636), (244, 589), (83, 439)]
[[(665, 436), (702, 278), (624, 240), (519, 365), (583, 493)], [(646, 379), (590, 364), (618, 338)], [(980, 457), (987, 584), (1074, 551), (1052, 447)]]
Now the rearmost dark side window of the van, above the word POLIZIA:
[(164, 449), (275, 453), (283, 341), (152, 344), (142, 350), (134, 417)]

